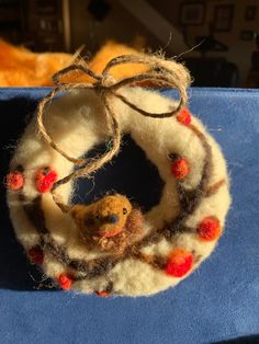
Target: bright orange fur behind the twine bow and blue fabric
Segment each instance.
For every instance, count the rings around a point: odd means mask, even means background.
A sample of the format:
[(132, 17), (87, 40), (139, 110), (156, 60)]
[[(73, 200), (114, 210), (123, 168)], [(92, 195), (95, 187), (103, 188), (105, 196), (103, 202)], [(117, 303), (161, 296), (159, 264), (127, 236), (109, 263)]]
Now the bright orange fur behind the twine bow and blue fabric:
[[(109, 60), (126, 55), (140, 54), (136, 49), (115, 42), (105, 43), (89, 61), (89, 67), (101, 72)], [(32, 53), (23, 47), (15, 47), (0, 39), (0, 87), (52, 87), (52, 76), (75, 62), (75, 56), (65, 53)], [(142, 65), (124, 65), (112, 69), (115, 79), (134, 76), (146, 71)], [(89, 77), (71, 73), (70, 82), (91, 81)]]

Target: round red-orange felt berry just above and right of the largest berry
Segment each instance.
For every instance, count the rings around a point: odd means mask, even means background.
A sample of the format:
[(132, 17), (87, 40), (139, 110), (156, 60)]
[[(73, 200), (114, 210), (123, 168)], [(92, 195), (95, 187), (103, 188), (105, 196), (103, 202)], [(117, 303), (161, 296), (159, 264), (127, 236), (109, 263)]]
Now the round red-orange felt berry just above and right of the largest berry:
[(214, 216), (209, 216), (200, 222), (196, 231), (201, 240), (216, 240), (222, 233), (219, 220)]

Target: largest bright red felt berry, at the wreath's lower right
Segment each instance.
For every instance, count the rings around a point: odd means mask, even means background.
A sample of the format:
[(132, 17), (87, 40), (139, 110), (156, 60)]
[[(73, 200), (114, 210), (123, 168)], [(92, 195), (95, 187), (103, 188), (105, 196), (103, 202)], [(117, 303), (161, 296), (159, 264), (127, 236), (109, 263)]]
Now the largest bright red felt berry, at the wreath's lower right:
[(167, 275), (170, 275), (172, 277), (182, 277), (192, 268), (192, 253), (182, 249), (177, 249), (169, 256), (169, 261), (166, 264), (165, 272)]

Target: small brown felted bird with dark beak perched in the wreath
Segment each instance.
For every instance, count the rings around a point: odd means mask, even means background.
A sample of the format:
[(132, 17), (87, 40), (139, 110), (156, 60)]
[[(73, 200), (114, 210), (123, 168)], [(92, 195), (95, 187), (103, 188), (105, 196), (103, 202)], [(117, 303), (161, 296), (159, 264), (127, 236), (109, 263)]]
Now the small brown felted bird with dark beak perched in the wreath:
[(143, 236), (143, 215), (120, 194), (108, 195), (90, 205), (75, 205), (71, 216), (89, 249), (121, 254)]

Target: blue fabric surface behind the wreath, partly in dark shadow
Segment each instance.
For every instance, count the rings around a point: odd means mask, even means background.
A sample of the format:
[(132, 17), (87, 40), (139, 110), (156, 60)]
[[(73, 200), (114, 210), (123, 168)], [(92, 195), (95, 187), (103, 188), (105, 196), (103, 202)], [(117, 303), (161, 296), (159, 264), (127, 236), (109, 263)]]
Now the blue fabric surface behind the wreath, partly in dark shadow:
[[(11, 146), (46, 91), (0, 89), (1, 177)], [(190, 89), (189, 95), (191, 111), (222, 146), (232, 177), (233, 206), (216, 251), (179, 286), (150, 298), (104, 299), (37, 289), (41, 274), (14, 238), (1, 188), (0, 343), (193, 344), (259, 333), (259, 91)], [(123, 151), (112, 169), (126, 161)], [(146, 167), (148, 175), (157, 177)], [(105, 190), (110, 179), (122, 191), (126, 173), (134, 184), (131, 169), (122, 172), (119, 183), (120, 174), (113, 177), (109, 169), (98, 174), (97, 192)], [(137, 200), (145, 206), (146, 197), (148, 207), (148, 196), (153, 194), (147, 195), (144, 185)]]

